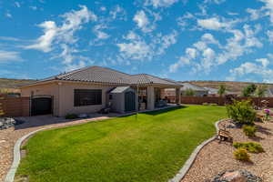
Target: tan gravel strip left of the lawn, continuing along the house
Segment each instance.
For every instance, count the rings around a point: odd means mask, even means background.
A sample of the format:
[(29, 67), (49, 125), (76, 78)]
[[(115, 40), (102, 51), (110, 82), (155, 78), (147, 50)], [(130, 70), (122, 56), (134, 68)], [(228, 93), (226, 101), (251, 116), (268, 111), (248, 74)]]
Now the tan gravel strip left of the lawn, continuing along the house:
[[(110, 116), (116, 116), (116, 114), (112, 114)], [(4, 181), (5, 175), (12, 165), (13, 149), (15, 142), (20, 137), (44, 127), (52, 128), (60, 126), (72, 126), (106, 118), (109, 118), (109, 116), (94, 115), (93, 118), (77, 120), (66, 120), (62, 117), (53, 116), (33, 116), (18, 118), (19, 120), (25, 120), (25, 123), (0, 130), (0, 181)]]

